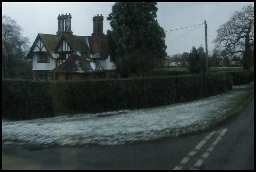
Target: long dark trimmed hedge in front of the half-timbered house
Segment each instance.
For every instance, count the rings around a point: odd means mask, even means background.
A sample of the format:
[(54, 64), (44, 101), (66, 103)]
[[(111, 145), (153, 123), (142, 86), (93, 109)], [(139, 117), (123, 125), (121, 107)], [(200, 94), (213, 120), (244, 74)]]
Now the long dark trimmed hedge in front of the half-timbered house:
[(231, 89), (229, 73), (73, 82), (2, 79), (2, 118), (21, 120), (163, 106)]

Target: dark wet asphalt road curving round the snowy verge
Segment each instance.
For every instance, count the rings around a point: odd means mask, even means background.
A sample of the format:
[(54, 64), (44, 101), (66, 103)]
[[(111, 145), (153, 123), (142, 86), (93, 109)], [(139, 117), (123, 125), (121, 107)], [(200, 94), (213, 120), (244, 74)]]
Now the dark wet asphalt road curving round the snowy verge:
[(2, 169), (254, 169), (254, 98), (229, 121), (187, 136), (118, 146), (2, 145)]

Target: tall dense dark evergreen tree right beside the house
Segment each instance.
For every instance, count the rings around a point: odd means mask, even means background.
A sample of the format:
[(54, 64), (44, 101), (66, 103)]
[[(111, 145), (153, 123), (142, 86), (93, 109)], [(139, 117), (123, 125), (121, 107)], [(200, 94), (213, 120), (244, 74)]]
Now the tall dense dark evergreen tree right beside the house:
[(109, 53), (116, 70), (126, 76), (148, 75), (167, 53), (164, 29), (156, 20), (156, 2), (117, 2), (108, 15)]

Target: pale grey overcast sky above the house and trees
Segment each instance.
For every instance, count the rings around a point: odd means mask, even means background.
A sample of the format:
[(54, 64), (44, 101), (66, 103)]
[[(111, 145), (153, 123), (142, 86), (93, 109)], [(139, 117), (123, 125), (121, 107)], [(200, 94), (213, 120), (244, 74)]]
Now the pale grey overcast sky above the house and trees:
[[(103, 32), (106, 34), (111, 27), (107, 20), (114, 2), (85, 2), (85, 3), (19, 3), (2, 2), (2, 16), (5, 14), (14, 19), (23, 30), (30, 42), (34, 42), (38, 33), (53, 34), (58, 31), (57, 16), (70, 13), (71, 30), (73, 35), (89, 36), (93, 32), (92, 17), (97, 14), (104, 16)], [(166, 52), (173, 55), (190, 52), (192, 46), (205, 48), (204, 20), (207, 23), (208, 53), (214, 48), (212, 43), (216, 30), (231, 17), (231, 13), (241, 10), (243, 6), (253, 2), (227, 3), (173, 3), (159, 2), (157, 18), (159, 25), (164, 28), (167, 45)], [(203, 24), (203, 25), (199, 25)], [(194, 26), (197, 25), (197, 26)], [(190, 27), (194, 26), (194, 27)], [(188, 27), (185, 29), (180, 29)], [(180, 29), (180, 30), (174, 30)], [(170, 31), (174, 30), (174, 31)], [(32, 45), (32, 44), (31, 44)]]

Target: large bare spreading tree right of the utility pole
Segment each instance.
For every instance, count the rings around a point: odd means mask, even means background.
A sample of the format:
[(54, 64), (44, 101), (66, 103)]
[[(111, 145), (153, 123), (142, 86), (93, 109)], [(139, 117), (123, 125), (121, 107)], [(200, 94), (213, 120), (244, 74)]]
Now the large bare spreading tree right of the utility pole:
[(243, 53), (244, 70), (250, 68), (250, 58), (254, 52), (254, 6), (248, 5), (242, 11), (235, 11), (232, 17), (217, 30), (213, 41), (224, 56)]

